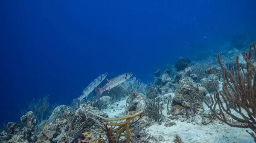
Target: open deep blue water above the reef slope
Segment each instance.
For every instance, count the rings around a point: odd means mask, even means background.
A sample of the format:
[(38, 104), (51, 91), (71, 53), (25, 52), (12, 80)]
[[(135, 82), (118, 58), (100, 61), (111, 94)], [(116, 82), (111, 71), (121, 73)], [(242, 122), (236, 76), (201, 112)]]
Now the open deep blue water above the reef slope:
[(0, 123), (19, 121), (20, 109), (47, 94), (70, 104), (104, 72), (152, 81), (154, 67), (256, 31), (254, 0), (0, 3)]

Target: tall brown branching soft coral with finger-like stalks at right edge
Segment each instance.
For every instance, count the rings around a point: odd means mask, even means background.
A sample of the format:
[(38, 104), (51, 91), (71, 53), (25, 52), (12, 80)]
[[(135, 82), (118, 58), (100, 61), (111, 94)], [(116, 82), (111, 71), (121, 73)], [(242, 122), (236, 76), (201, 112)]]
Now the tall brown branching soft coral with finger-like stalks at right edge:
[[(239, 56), (236, 57), (236, 75), (238, 78), (237, 82), (234, 74), (227, 70), (227, 68), (224, 67), (224, 65), (221, 63), (220, 54), (217, 55), (218, 62), (223, 73), (223, 89), (222, 91), (218, 91), (214, 85), (216, 93), (213, 97), (211, 96), (212, 104), (209, 105), (205, 100), (204, 103), (210, 108), (216, 118), (226, 123), (227, 125), (232, 127), (252, 129), (253, 132), (247, 132), (256, 142), (256, 67), (250, 60), (252, 55), (252, 45), (254, 51), (256, 51), (255, 43), (253, 42), (250, 44), (249, 54), (247, 54), (247, 52), (243, 52), (243, 58), (247, 63), (245, 80), (241, 75), (241, 70), (239, 67)], [(222, 97), (223, 101), (221, 100), (220, 96)], [(204, 98), (204, 95), (202, 95), (202, 97)], [(226, 107), (224, 107), (224, 104), (226, 104)], [(217, 106), (219, 107), (220, 115), (218, 115), (216, 112)], [(231, 112), (231, 109), (233, 109), (233, 111), (238, 113), (240, 116)], [(246, 112), (246, 114), (242, 112), (243, 110)], [(230, 122), (227, 120), (228, 117), (233, 118), (234, 120), (238, 121), (238, 123)]]

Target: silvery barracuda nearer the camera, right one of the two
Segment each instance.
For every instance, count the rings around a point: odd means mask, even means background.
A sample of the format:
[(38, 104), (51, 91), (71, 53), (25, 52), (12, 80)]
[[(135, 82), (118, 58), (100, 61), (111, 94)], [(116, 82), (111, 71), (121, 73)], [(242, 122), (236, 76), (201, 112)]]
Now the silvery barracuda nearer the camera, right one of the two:
[(94, 90), (96, 92), (96, 102), (99, 101), (99, 98), (101, 97), (102, 93), (106, 90), (108, 90), (108, 93), (110, 92), (110, 90), (121, 84), (122, 82), (124, 82), (125, 80), (129, 79), (131, 76), (133, 75), (133, 73), (124, 73), (122, 75), (116, 76), (115, 78), (108, 80), (108, 83), (106, 85), (104, 85), (104, 87), (95, 87)]

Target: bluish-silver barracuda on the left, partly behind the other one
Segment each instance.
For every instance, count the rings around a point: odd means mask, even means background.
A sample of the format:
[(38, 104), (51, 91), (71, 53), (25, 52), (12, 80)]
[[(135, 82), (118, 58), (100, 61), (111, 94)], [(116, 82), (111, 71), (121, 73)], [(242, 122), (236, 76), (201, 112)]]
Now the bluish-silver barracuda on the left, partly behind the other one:
[(94, 79), (86, 88), (83, 88), (83, 93), (79, 98), (74, 99), (73, 101), (78, 102), (78, 107), (80, 105), (80, 101), (86, 97), (88, 98), (88, 95), (94, 90), (94, 87), (97, 87), (106, 77), (108, 73), (103, 73), (102, 75), (98, 76), (96, 79)]

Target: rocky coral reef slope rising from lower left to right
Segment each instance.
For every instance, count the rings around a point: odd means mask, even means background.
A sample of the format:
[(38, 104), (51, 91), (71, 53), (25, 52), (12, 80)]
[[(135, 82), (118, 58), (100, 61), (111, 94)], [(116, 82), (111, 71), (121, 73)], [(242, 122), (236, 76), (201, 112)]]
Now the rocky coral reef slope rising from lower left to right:
[[(134, 77), (115, 87), (116, 91), (113, 88), (109, 94), (104, 93), (97, 103), (93, 97), (81, 101), (79, 109), (72, 107), (73, 104), (71, 107), (58, 106), (51, 111), (48, 120), (42, 120), (42, 117), (48, 117), (45, 112), (49, 110), (49, 106), (40, 104), (44, 108), (42, 111), (36, 111), (37, 115), (27, 112), (20, 118), (21, 124), (10, 122), (1, 129), (0, 142), (195, 142), (195, 138), (188, 137), (193, 134), (189, 130), (194, 132), (195, 126), (199, 129), (197, 131), (204, 126), (207, 126), (204, 129), (210, 127), (205, 133), (205, 136), (209, 137), (216, 129), (215, 123), (221, 122), (233, 127), (252, 129), (246, 131), (249, 134), (244, 134), (256, 140), (256, 67), (252, 58), (252, 49), (256, 48), (253, 45), (254, 43), (250, 45), (249, 53), (243, 53), (246, 65), (241, 64), (244, 62), (239, 63), (239, 57), (236, 58), (235, 64), (224, 63), (218, 55), (221, 69), (217, 66), (217, 61), (215, 63), (213, 60), (206, 63), (194, 62), (189, 66), (190, 60), (181, 57), (176, 62), (178, 72), (174, 72), (171, 65), (166, 65), (163, 73), (157, 69), (154, 81), (147, 87)], [(237, 50), (223, 53), (237, 53)], [(222, 90), (218, 91), (218, 88)], [(147, 90), (144, 92), (145, 89)], [(215, 94), (209, 96), (209, 93), (213, 92)], [(117, 97), (118, 95), (121, 96)], [(210, 110), (204, 108), (206, 106), (203, 101)], [(47, 103), (43, 100), (44, 102)], [(40, 112), (43, 112), (42, 115)], [(36, 125), (38, 117), (42, 121)], [(149, 132), (150, 129), (152, 132)], [(214, 132), (215, 137), (221, 134), (217, 132)], [(201, 143), (201, 140), (199, 142)]]

